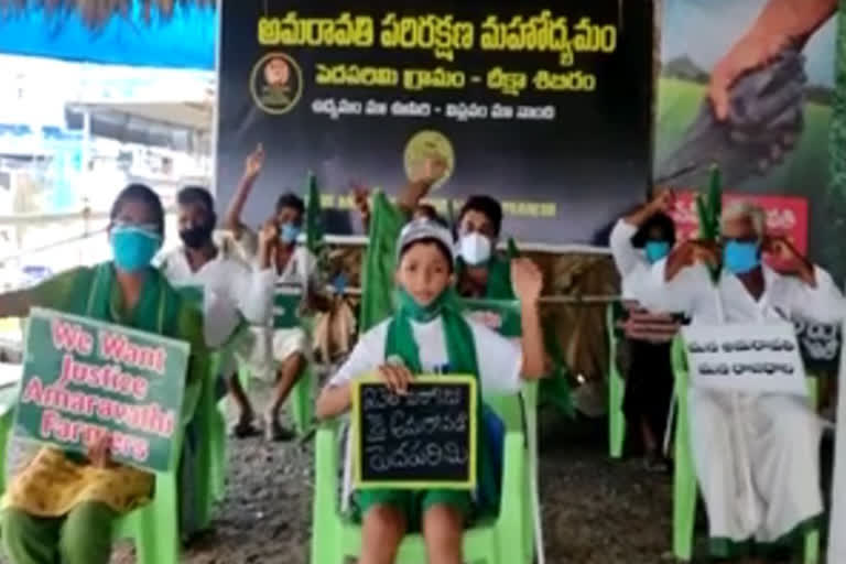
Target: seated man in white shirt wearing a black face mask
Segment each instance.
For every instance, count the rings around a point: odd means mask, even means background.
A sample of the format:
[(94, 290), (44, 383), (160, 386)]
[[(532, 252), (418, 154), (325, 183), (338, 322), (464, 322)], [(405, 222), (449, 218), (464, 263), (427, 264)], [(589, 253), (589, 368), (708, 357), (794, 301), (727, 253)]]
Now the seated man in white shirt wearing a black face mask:
[[(175, 286), (199, 286), (204, 296), (205, 336), (209, 348), (224, 346), (239, 333), (243, 319), (252, 325), (267, 325), (273, 307), (276, 273), (270, 268), (274, 234), (259, 234), (259, 264), (251, 269), (228, 249), (215, 243), (217, 224), (212, 194), (205, 188), (189, 186), (176, 195), (180, 238), (183, 246), (160, 261), (160, 268)], [(236, 337), (237, 350), (245, 352), (250, 339)], [(245, 437), (256, 433), (254, 414), (238, 378), (234, 358), (223, 360), (221, 377), (238, 405), (238, 421), (232, 434)]]

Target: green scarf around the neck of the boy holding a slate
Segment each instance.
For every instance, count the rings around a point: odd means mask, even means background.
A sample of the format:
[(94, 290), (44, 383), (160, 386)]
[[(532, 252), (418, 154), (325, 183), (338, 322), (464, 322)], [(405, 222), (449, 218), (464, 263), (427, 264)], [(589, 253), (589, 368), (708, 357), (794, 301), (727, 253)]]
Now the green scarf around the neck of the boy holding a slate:
[(481, 511), (496, 510), (499, 502), (499, 480), (496, 476), (490, 453), (487, 451), (485, 426), (481, 419), (482, 390), (479, 381), (479, 369), (476, 359), (476, 343), (473, 330), (464, 318), (454, 290), (445, 290), (432, 304), (421, 307), (404, 290), (398, 292), (398, 307), (393, 319), (388, 326), (384, 345), (384, 358), (399, 357), (405, 367), (414, 375), (423, 372), (420, 360), (420, 348), (414, 340), (411, 322), (426, 323), (438, 315), (444, 324), (446, 352), (449, 358), (449, 372), (456, 375), (473, 375), (476, 377), (478, 390), (477, 417), (477, 491), (478, 505)]

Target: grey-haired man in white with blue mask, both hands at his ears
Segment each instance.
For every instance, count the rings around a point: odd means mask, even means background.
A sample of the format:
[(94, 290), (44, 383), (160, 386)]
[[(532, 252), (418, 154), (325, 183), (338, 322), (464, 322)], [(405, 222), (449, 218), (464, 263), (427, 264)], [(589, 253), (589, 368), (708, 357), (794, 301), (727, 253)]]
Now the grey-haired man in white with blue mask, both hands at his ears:
[[(769, 236), (760, 207), (741, 202), (726, 209), (720, 242), (676, 247), (654, 264), (657, 291), (641, 302), (684, 312), (694, 324), (843, 318), (843, 295), (832, 278), (787, 239)], [(722, 268), (716, 282), (708, 267)], [(804, 400), (695, 387), (688, 398), (693, 460), (715, 556), (735, 557), (750, 541), (763, 553), (820, 518), (821, 424)]]

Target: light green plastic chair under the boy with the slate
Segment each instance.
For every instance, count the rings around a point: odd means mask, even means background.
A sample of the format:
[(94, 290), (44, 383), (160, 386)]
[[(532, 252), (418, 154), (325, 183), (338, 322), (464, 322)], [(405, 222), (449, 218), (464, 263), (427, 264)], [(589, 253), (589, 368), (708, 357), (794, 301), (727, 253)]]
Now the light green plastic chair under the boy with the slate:
[[(531, 480), (525, 427), (517, 395), (486, 398), (506, 424), (502, 499), (498, 517), (488, 518), (464, 532), (465, 562), (529, 564), (534, 558), (531, 530)], [(317, 430), (315, 443), (315, 495), (312, 523), (312, 564), (341, 564), (361, 553), (361, 528), (340, 513), (337, 422)], [(426, 562), (421, 534), (408, 534), (400, 545), (398, 564)]]

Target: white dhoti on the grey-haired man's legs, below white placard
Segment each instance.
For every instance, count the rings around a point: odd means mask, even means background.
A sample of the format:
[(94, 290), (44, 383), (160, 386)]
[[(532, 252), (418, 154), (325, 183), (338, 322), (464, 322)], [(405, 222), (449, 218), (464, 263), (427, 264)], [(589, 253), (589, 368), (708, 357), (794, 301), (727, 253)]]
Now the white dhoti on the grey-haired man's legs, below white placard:
[(822, 425), (805, 400), (691, 389), (712, 540), (771, 543), (820, 517)]

